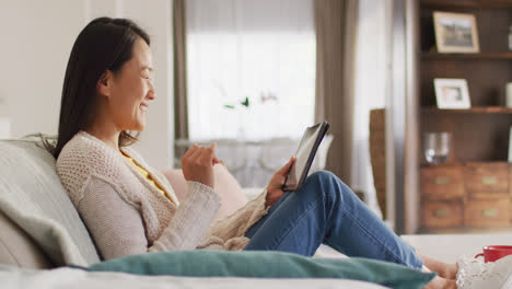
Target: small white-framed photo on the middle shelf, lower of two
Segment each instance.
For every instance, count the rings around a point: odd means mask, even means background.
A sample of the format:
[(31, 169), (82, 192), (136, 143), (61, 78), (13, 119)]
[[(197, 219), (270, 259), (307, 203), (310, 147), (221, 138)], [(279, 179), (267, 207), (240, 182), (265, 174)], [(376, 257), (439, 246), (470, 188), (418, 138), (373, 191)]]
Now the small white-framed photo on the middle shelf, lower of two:
[(435, 100), (439, 108), (470, 108), (465, 79), (434, 79)]

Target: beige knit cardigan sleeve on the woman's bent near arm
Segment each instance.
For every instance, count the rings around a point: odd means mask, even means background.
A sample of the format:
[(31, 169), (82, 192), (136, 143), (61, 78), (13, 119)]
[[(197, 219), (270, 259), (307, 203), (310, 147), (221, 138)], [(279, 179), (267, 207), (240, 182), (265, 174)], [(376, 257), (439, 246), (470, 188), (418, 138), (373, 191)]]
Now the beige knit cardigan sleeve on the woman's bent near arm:
[(104, 259), (146, 252), (193, 250), (213, 221), (220, 200), (200, 183), (188, 183), (189, 194), (152, 246), (149, 246), (141, 212), (115, 185), (91, 176), (78, 210)]

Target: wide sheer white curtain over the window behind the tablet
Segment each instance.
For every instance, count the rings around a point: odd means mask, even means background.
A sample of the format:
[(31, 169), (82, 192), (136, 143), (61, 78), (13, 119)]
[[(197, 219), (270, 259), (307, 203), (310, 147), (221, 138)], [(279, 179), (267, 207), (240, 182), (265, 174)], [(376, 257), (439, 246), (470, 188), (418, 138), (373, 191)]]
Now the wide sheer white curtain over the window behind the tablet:
[(187, 0), (186, 11), (189, 139), (302, 136), (314, 122), (313, 0)]

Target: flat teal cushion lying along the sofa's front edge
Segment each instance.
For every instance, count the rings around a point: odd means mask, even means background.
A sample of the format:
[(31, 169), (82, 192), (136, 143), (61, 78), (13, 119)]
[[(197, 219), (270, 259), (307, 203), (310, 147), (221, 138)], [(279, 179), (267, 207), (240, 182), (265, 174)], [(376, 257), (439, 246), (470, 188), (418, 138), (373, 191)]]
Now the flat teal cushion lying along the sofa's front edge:
[(366, 258), (311, 258), (283, 252), (181, 251), (131, 255), (97, 263), (90, 270), (138, 275), (256, 278), (344, 278), (391, 288), (422, 288), (435, 274)]

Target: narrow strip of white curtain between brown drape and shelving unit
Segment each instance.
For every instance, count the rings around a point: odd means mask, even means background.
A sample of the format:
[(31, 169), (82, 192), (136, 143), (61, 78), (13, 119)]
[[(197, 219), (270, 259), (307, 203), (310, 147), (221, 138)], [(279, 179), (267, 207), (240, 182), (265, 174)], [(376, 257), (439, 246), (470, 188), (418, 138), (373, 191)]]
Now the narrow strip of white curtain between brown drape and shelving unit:
[[(356, 90), (351, 186), (364, 192), (366, 203), (379, 210), (369, 150), (370, 111), (385, 106), (387, 74), (391, 73), (389, 21), (386, 9), (391, 0), (360, 0), (356, 56)], [(379, 212), (380, 213), (380, 212)]]

